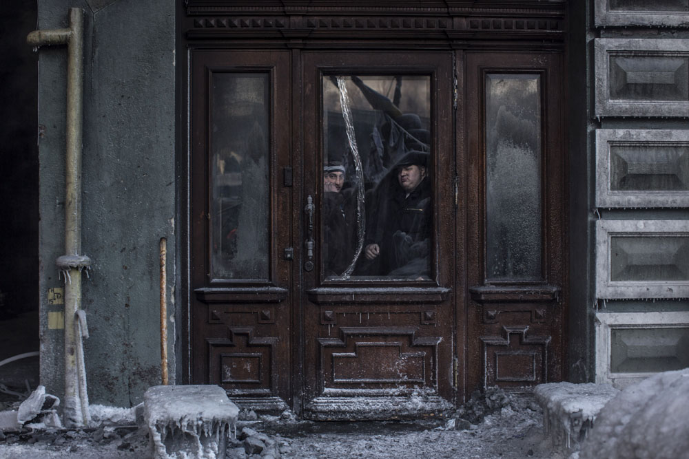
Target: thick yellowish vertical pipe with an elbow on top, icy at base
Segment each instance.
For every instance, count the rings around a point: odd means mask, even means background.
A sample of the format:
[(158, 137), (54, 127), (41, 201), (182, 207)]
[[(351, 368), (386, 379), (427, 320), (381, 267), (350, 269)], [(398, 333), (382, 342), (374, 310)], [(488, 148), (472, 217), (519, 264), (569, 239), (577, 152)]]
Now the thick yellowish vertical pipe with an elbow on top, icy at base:
[[(70, 28), (34, 30), (27, 37), (34, 47), (66, 44), (67, 65), (67, 154), (65, 156), (65, 255), (57, 266), (65, 275), (65, 403), (66, 427), (88, 424), (85, 381), (79, 381), (78, 346), (81, 333), (77, 312), (81, 309), (81, 271), (90, 259), (81, 255), (81, 144), (83, 127), (83, 11), (70, 8)], [(79, 343), (77, 343), (79, 340)], [(81, 364), (83, 365), (83, 363)], [(82, 374), (85, 374), (84, 369)], [(85, 380), (85, 378), (84, 378)], [(84, 386), (84, 387), (80, 387)], [(84, 414), (87, 413), (85, 416)]]

